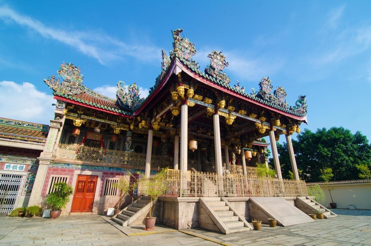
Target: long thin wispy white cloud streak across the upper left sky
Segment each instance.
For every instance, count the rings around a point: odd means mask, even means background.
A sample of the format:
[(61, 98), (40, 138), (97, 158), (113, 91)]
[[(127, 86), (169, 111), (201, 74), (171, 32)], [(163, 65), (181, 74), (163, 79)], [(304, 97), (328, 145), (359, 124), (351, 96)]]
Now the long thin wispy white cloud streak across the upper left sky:
[(0, 6), (0, 19), (6, 24), (12, 21), (34, 30), (41, 36), (72, 46), (79, 52), (95, 58), (101, 64), (132, 56), (141, 61), (159, 61), (161, 49), (154, 45), (128, 45), (108, 35), (96, 32), (71, 32), (60, 28), (47, 27), (38, 20), (22, 15), (7, 6)]

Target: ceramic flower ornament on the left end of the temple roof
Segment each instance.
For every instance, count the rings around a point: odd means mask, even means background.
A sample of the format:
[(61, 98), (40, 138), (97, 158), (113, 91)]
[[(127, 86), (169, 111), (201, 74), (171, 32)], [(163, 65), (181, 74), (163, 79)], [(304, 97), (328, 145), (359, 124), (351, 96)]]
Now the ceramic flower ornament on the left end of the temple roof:
[(63, 79), (62, 83), (59, 82), (59, 78), (55, 78), (55, 75), (44, 79), (53, 91), (65, 95), (76, 95), (86, 91), (85, 86), (82, 85), (83, 75), (79, 67), (63, 62), (59, 67), (58, 75)]

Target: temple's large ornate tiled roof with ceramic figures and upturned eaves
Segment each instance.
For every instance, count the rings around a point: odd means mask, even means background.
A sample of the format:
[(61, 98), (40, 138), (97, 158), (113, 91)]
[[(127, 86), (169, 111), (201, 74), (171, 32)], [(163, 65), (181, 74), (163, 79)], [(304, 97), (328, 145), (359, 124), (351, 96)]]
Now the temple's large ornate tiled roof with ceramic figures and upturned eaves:
[[(134, 83), (128, 86), (128, 91), (125, 90), (125, 84), (122, 81), (117, 83), (118, 91), (116, 93), (117, 99), (108, 98), (98, 94), (82, 84), (83, 75), (80, 68), (72, 63), (62, 63), (58, 70), (58, 75), (63, 79), (62, 83), (55, 75), (44, 79), (45, 83), (53, 89), (53, 94), (86, 104), (95, 108), (104, 109), (111, 112), (116, 112), (123, 115), (132, 115), (143, 103), (150, 99), (151, 95), (156, 91), (160, 82), (165, 78), (165, 74), (174, 63), (174, 60), (179, 60), (190, 72), (206, 79), (211, 83), (216, 83), (231, 92), (236, 92), (246, 98), (259, 102), (260, 104), (270, 106), (279, 111), (286, 112), (297, 117), (305, 117), (307, 114), (306, 97), (299, 95), (295, 106), (288, 106), (285, 100), (286, 91), (282, 87), (277, 87), (271, 93), (273, 86), (268, 77), (262, 78), (259, 83), (259, 91), (252, 89), (252, 93), (244, 92), (244, 86), (240, 87), (240, 82), (233, 87), (230, 85), (230, 77), (223, 72), (223, 69), (229, 64), (222, 52), (213, 50), (208, 57), (210, 58), (210, 65), (206, 67), (204, 72), (199, 69), (200, 66), (192, 59), (196, 54), (194, 43), (187, 38), (181, 37), (183, 29), (173, 31), (173, 50), (170, 51), (170, 58), (162, 50), (162, 64), (161, 73), (156, 78), (154, 86), (150, 88), (150, 93), (146, 99), (140, 98), (138, 86)], [(168, 77), (168, 76), (167, 76)]]

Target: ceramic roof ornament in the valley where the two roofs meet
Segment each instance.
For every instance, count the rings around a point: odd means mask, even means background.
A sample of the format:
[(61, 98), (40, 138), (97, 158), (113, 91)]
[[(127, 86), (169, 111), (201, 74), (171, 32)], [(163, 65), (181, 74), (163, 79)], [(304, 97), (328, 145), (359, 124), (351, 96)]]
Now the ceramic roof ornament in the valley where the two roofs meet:
[(137, 83), (128, 86), (128, 92), (125, 91), (125, 83), (117, 82), (116, 97), (119, 105), (125, 109), (136, 108), (141, 105), (144, 98), (140, 98)]

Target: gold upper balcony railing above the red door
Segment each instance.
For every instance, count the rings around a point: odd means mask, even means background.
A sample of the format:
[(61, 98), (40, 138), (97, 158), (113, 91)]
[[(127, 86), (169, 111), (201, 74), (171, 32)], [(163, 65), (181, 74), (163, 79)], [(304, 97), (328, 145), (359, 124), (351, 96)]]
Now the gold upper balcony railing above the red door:
[[(100, 163), (118, 163), (132, 166), (145, 166), (146, 154), (138, 154), (134, 152), (105, 150), (100, 148), (91, 148), (85, 146), (59, 144), (56, 152), (57, 158), (93, 161)], [(171, 167), (174, 159), (171, 157), (163, 157), (152, 155), (151, 167)]]

